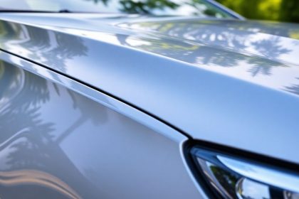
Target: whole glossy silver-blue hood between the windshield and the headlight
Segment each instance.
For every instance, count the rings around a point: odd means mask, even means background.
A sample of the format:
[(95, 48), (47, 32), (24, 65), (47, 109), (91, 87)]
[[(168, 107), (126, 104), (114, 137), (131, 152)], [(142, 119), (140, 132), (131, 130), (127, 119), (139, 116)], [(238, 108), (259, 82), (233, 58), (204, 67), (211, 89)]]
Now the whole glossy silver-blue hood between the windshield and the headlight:
[(0, 48), (211, 141), (299, 163), (298, 25), (3, 14)]

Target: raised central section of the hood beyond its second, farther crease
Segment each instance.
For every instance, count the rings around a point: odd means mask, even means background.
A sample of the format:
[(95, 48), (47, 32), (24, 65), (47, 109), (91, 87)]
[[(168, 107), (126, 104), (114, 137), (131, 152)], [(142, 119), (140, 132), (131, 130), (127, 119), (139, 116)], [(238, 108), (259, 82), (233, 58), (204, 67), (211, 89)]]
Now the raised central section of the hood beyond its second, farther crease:
[[(299, 65), (299, 24), (185, 19), (123, 23), (120, 26), (217, 48), (216, 50)], [(196, 64), (194, 59), (184, 60)], [(230, 65), (229, 62), (227, 64)], [(221, 65), (225, 66), (225, 63)]]

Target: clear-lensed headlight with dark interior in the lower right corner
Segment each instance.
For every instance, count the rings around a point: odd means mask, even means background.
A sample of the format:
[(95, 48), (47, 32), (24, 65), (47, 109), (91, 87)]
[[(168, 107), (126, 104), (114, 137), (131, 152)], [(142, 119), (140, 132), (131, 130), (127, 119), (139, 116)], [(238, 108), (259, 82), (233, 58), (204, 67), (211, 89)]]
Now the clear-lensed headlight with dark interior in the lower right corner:
[(190, 152), (201, 178), (219, 198), (299, 198), (298, 173), (205, 148)]

